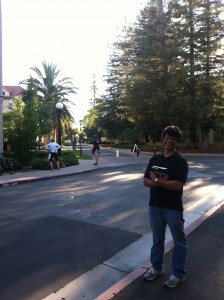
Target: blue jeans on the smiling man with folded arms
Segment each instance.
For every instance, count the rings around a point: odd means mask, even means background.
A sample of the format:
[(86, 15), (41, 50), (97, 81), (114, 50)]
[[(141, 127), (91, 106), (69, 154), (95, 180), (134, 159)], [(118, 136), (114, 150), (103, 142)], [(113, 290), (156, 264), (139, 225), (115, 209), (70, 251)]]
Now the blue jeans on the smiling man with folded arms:
[(187, 239), (184, 233), (183, 212), (158, 206), (149, 206), (149, 221), (153, 235), (151, 248), (151, 263), (153, 268), (163, 268), (165, 232), (168, 225), (173, 242), (172, 274), (182, 278), (186, 273)]

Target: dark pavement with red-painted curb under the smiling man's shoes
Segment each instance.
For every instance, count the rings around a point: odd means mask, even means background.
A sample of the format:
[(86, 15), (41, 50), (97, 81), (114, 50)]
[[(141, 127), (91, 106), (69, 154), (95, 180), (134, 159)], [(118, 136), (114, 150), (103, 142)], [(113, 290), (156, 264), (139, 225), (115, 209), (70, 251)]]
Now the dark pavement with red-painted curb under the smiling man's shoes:
[[(139, 267), (95, 300), (222, 300), (224, 299), (224, 201), (186, 229), (188, 257), (186, 281), (174, 289), (163, 286), (171, 273), (172, 243), (165, 248), (165, 275), (147, 282)], [(138, 253), (136, 253), (138, 255)]]

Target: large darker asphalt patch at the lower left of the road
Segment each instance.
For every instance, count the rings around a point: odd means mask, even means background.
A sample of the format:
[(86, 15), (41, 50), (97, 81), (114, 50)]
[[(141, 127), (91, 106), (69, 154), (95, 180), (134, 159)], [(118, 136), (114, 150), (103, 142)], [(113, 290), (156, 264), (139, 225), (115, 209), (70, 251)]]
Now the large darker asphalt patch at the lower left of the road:
[(53, 216), (26, 222), (2, 217), (0, 299), (40, 300), (140, 237)]

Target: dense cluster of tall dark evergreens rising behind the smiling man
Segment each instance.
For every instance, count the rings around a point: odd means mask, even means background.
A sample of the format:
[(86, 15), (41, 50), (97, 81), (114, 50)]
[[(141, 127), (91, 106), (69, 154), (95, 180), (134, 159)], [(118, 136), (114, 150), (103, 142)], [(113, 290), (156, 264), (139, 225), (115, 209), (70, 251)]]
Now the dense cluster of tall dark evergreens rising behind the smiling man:
[(151, 136), (175, 123), (193, 142), (200, 132), (207, 139), (223, 102), (221, 8), (221, 0), (146, 5), (110, 61), (109, 92), (123, 117)]

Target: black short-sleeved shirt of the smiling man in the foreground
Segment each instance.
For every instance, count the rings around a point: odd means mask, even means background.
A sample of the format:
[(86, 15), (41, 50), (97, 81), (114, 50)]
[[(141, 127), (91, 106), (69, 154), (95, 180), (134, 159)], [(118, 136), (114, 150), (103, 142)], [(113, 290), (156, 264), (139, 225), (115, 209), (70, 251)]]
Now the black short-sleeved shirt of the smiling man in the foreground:
[[(178, 180), (185, 184), (188, 175), (188, 163), (178, 152), (166, 158), (163, 153), (154, 155), (146, 168), (145, 178), (149, 178), (153, 166), (167, 168), (169, 180)], [(161, 208), (183, 211), (183, 191), (172, 191), (160, 186), (150, 189), (149, 205), (156, 205)]]

